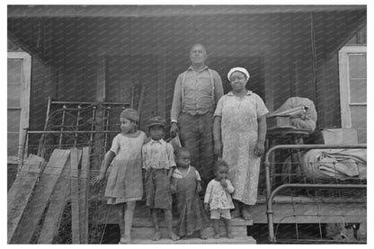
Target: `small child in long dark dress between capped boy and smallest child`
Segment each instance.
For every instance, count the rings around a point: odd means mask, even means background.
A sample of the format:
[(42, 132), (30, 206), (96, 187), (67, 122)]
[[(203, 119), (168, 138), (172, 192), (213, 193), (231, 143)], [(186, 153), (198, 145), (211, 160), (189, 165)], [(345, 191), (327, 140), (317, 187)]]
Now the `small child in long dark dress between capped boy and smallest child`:
[(194, 231), (200, 231), (200, 238), (207, 239), (202, 229), (209, 223), (201, 203), (200, 173), (191, 165), (191, 155), (187, 148), (181, 147), (176, 153), (176, 165), (172, 175), (172, 190), (176, 197), (179, 214), (178, 235), (187, 239)]

